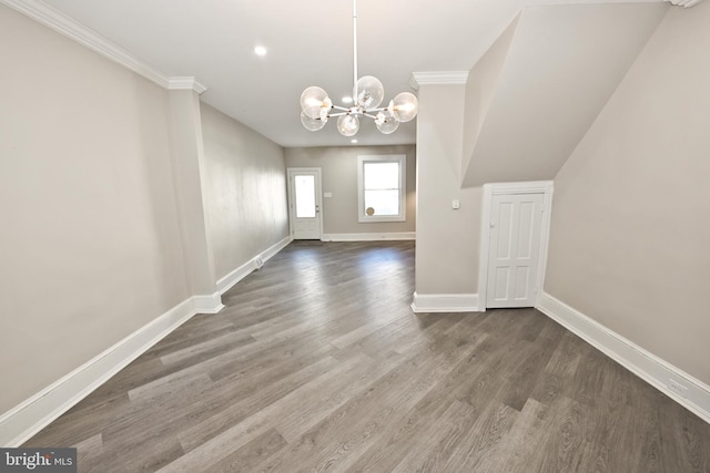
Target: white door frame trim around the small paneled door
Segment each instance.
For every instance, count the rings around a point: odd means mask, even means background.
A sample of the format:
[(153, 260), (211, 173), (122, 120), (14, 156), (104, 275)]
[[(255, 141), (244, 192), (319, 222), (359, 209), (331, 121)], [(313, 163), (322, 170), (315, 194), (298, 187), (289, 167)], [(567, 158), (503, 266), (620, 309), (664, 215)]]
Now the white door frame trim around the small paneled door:
[(540, 223), (540, 264), (536, 275), (537, 291), (535, 306), (542, 296), (542, 282), (547, 269), (547, 249), (550, 235), (550, 215), (552, 212), (552, 181), (530, 181), (519, 183), (484, 184), (481, 219), (480, 219), (480, 253), (478, 260), (478, 308), (486, 311), (486, 296), (488, 292), (488, 265), (490, 258), (490, 217), (494, 195), (542, 194), (542, 222)]

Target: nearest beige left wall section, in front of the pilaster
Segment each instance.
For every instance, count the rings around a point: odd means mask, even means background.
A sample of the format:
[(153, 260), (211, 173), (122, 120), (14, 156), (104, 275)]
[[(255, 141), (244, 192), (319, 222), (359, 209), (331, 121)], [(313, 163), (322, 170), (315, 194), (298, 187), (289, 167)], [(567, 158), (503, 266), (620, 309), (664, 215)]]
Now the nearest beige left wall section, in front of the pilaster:
[(0, 6), (0, 412), (190, 296), (169, 93)]

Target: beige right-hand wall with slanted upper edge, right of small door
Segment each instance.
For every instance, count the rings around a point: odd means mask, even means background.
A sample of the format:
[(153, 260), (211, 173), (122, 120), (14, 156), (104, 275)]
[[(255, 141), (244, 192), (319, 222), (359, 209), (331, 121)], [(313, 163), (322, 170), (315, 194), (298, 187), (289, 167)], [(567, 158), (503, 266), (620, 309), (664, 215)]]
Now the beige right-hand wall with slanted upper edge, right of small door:
[(545, 290), (710, 383), (710, 2), (671, 8), (555, 178)]

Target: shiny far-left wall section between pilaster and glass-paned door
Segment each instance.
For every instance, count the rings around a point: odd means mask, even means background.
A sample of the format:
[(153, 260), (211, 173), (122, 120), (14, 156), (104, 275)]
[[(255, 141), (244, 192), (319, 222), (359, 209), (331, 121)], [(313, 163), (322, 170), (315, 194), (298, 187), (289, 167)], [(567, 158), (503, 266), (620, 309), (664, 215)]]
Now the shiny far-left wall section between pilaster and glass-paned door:
[(216, 279), (288, 236), (284, 150), (202, 103), (204, 198)]

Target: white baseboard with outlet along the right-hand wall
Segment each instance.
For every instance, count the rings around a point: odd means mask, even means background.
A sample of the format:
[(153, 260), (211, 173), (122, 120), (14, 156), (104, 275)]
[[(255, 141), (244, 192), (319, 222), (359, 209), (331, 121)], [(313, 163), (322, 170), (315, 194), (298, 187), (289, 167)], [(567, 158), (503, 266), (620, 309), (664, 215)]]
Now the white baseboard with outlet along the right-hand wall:
[[(610, 357), (686, 409), (710, 423), (710, 387), (648, 352), (575, 308), (544, 292), (538, 310)], [(682, 394), (669, 382), (686, 388)]]

